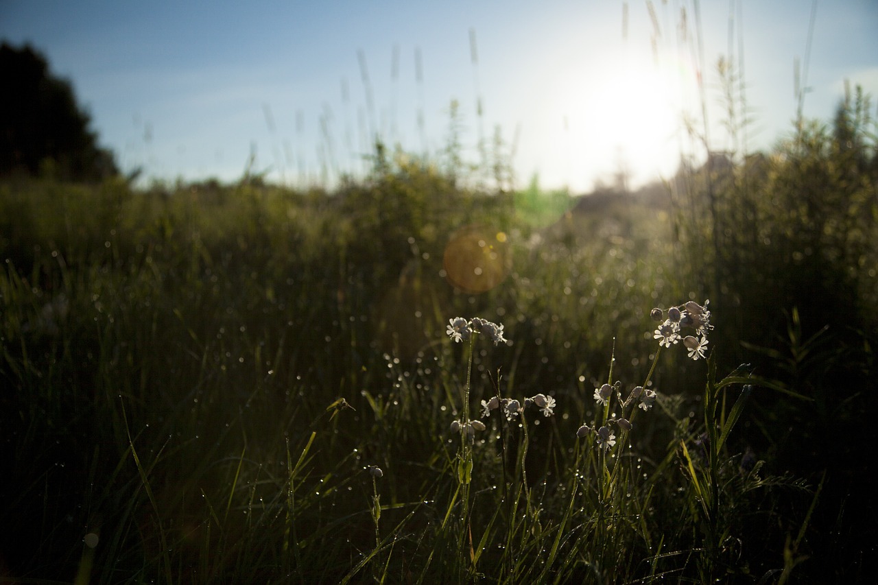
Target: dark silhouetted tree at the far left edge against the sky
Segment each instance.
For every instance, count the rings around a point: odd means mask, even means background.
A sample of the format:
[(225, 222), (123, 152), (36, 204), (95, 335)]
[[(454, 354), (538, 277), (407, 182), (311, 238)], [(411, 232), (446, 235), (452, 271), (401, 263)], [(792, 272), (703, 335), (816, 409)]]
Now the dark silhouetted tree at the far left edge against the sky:
[(119, 173), (112, 152), (97, 145), (90, 115), (71, 84), (54, 76), (30, 45), (0, 46), (0, 175), (96, 181)]

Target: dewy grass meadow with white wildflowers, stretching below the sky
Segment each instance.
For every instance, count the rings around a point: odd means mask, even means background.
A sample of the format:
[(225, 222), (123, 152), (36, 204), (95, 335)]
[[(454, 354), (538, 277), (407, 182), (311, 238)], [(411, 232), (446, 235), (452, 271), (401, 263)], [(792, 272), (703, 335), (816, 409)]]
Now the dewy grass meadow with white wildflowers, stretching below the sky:
[(4, 179), (0, 581), (869, 582), (868, 111), (583, 199)]

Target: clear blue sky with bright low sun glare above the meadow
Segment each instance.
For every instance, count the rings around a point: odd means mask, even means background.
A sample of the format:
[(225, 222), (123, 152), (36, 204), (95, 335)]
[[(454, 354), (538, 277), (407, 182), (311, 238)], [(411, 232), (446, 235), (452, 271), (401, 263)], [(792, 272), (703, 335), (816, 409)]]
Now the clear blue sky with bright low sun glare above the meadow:
[(464, 157), (499, 136), (515, 187), (637, 186), (771, 148), (796, 78), (808, 118), (846, 82), (878, 97), (875, 30), (876, 0), (0, 0), (122, 170), (299, 186), (362, 176), (376, 137), (437, 160), (453, 101)]

